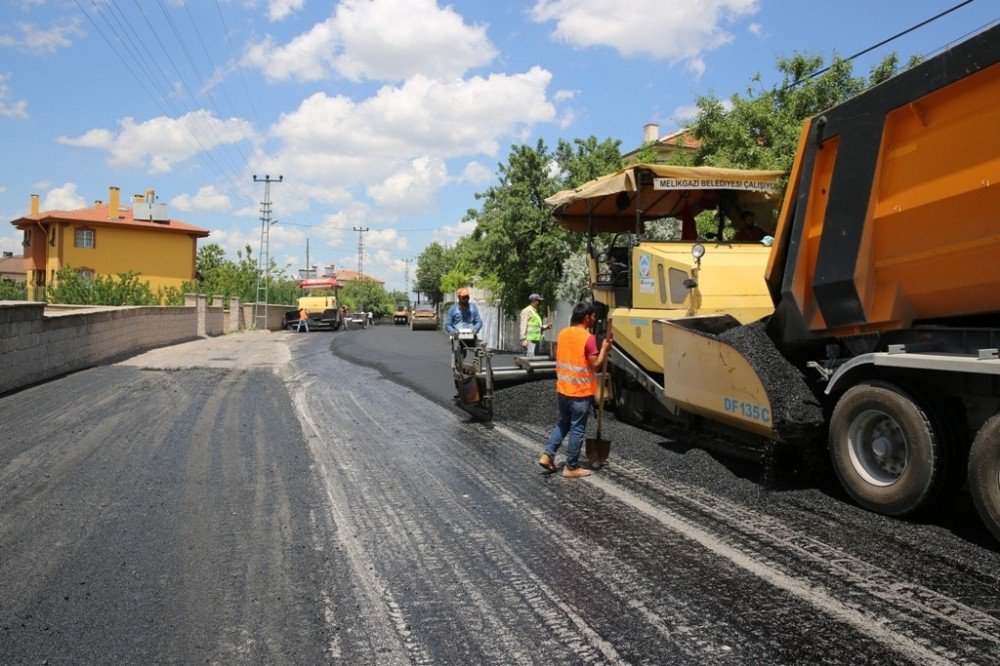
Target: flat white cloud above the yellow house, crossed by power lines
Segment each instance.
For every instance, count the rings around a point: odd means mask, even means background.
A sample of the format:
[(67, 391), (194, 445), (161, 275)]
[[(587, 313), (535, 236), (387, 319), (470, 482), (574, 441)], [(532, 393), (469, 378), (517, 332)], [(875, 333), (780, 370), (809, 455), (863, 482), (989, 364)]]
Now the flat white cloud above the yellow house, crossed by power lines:
[(252, 125), (237, 118), (219, 120), (208, 111), (193, 111), (179, 118), (160, 116), (136, 123), (132, 118), (119, 122), (121, 130), (93, 129), (77, 138), (59, 137), (70, 146), (99, 148), (109, 153), (113, 166), (142, 167), (148, 173), (170, 171), (175, 164), (202, 151), (253, 136)]

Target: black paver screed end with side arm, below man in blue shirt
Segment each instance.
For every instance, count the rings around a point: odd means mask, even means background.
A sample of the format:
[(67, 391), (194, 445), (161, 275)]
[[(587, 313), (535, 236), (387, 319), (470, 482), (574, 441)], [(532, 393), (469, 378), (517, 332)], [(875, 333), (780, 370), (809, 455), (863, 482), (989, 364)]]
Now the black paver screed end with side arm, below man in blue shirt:
[(514, 367), (494, 368), (493, 350), (471, 331), (451, 336), (451, 352), (455, 402), (480, 421), (493, 420), (494, 390), (556, 375), (556, 362), (550, 356), (514, 356)]

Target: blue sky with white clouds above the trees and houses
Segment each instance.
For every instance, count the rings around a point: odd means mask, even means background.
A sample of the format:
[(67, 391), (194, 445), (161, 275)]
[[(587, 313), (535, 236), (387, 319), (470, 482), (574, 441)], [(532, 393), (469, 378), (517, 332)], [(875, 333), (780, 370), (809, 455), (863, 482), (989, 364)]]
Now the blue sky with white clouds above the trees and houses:
[[(778, 55), (848, 56), (960, 0), (0, 0), (0, 219), (156, 191), (235, 256), (357, 267), (402, 288), (406, 258), (461, 219), (513, 144), (594, 135), (630, 150), (683, 126)], [(995, 23), (974, 0), (856, 60), (932, 55)], [(20, 252), (13, 227), (0, 249)], [(204, 241), (203, 241), (204, 242)], [(415, 263), (410, 264), (413, 279)]]

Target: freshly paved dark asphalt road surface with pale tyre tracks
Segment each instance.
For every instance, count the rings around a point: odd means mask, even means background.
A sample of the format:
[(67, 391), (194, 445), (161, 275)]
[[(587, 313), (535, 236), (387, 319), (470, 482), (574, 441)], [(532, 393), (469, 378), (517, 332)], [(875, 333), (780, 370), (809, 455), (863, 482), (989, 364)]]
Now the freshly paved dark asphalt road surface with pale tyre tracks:
[(607, 422), (534, 463), (551, 382), (466, 418), (440, 333), (240, 334), (0, 398), (0, 663), (1000, 664), (959, 498)]

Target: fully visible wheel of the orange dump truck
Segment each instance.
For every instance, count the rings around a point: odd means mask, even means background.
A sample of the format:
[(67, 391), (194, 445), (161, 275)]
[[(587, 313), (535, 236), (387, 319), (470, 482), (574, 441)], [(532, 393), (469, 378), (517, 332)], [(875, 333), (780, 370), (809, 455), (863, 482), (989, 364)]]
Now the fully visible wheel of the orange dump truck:
[(943, 419), (887, 382), (850, 388), (830, 418), (830, 457), (861, 506), (906, 516), (933, 504), (946, 485), (954, 445)]

